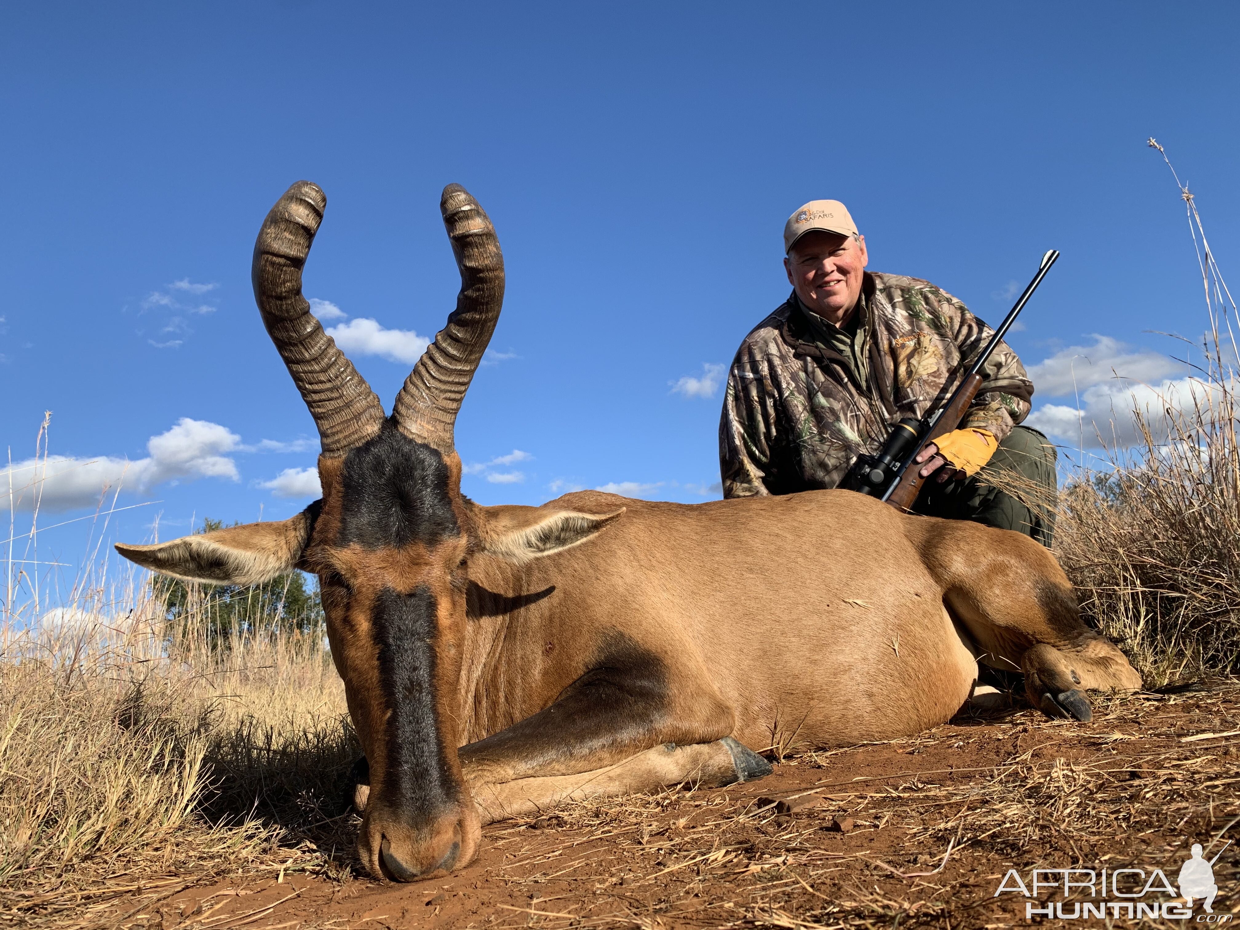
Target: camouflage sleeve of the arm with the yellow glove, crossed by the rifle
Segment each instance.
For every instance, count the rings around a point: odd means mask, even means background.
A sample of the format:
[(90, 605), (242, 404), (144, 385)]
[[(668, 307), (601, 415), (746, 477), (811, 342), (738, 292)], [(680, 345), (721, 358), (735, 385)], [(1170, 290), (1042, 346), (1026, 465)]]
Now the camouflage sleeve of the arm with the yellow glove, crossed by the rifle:
[[(986, 347), (994, 330), (973, 316), (968, 308), (946, 291), (939, 291), (937, 311), (950, 324), (954, 341), (960, 346), (967, 367)], [(1001, 443), (1012, 427), (1029, 415), (1033, 382), (1021, 360), (1007, 342), (999, 345), (982, 366), (982, 387), (968, 413), (960, 422), (961, 429), (988, 429)]]

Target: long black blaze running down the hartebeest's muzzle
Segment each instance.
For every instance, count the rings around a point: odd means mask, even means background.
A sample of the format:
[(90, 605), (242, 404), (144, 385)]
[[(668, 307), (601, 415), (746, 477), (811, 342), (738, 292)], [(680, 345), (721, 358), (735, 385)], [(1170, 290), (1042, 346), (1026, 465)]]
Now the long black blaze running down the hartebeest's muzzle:
[(379, 681), (391, 701), (387, 719), (383, 796), (399, 801), (417, 822), (459, 800), (435, 724), (435, 598), (428, 588), (412, 594), (384, 589), (374, 599), (374, 640)]

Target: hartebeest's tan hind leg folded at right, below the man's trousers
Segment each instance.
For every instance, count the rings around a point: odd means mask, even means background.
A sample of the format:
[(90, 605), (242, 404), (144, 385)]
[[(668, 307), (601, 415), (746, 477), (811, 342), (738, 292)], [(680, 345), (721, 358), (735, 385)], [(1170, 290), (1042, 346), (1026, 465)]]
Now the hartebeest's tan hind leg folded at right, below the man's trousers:
[[(1027, 537), (963, 521), (928, 521), (924, 558), (944, 604), (967, 630), (978, 661), (1024, 672), (1048, 717), (1092, 715), (1086, 691), (1133, 691), (1141, 676), (1080, 619), (1055, 557)], [(920, 527), (919, 527), (920, 528)]]

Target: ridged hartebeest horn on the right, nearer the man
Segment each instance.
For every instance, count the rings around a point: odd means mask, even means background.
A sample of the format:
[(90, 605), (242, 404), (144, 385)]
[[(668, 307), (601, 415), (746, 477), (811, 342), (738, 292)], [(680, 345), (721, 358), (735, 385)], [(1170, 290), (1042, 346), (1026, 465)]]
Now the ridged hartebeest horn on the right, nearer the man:
[(503, 304), (503, 255), (486, 212), (459, 184), (439, 201), (461, 290), (448, 325), (435, 334), (396, 398), (392, 417), (409, 439), (453, 451), (453, 427)]

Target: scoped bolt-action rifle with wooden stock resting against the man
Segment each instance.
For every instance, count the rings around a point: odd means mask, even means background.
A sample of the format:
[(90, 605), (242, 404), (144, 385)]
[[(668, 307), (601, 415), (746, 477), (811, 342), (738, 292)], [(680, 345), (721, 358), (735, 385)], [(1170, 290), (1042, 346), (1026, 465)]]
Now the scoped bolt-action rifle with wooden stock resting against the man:
[(1029, 281), (1029, 286), (1024, 289), (1003, 324), (994, 330), (994, 336), (982, 350), (982, 353), (973, 360), (965, 379), (961, 381), (960, 387), (956, 388), (947, 403), (921, 419), (905, 417), (899, 420), (888, 434), (878, 455), (858, 456), (843, 481), (843, 487), (878, 497), (898, 510), (906, 511), (913, 507), (913, 502), (925, 484), (925, 479), (919, 474), (921, 465), (916, 461), (918, 454), (928, 444), (960, 425), (960, 420), (963, 419), (968, 405), (973, 403), (973, 398), (977, 397), (977, 391), (982, 386), (982, 366), (986, 365), (1007, 331), (1012, 329), (1017, 314), (1024, 309), (1025, 303), (1042, 284), (1042, 279), (1047, 277), (1047, 272), (1050, 270), (1056, 258), (1059, 258), (1059, 253), (1055, 249), (1050, 249), (1042, 257), (1038, 274)]

